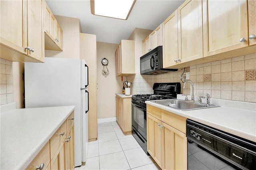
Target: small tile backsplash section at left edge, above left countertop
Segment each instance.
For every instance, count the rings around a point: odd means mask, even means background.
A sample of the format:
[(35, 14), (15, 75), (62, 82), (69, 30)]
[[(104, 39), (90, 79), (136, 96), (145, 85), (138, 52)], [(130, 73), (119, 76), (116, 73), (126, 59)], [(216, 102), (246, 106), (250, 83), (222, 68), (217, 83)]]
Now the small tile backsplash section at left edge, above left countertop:
[(0, 58), (0, 105), (14, 102), (12, 61)]

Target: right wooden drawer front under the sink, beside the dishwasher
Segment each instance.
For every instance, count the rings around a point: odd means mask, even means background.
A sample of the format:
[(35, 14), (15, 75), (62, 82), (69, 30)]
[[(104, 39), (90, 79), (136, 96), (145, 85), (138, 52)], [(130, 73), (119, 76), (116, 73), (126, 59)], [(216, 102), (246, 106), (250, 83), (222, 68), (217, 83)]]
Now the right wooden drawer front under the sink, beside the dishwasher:
[(161, 111), (162, 121), (183, 133), (186, 133), (186, 118), (176, 115), (174, 113), (170, 113), (168, 111)]

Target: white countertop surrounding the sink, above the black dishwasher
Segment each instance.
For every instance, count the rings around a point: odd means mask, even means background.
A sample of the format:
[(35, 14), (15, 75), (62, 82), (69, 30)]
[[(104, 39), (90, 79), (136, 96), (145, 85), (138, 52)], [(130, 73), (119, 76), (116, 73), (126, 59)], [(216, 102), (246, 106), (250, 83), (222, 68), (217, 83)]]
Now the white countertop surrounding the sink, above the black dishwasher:
[(160, 105), (154, 101), (146, 101), (146, 104), (256, 142), (255, 110), (221, 106), (208, 109), (179, 111), (169, 106)]

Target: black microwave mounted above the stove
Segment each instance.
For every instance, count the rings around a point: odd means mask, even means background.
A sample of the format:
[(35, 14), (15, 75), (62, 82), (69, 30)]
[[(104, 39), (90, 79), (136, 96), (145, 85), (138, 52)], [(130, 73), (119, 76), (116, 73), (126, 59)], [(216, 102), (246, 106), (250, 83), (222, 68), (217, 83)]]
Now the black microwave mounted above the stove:
[(140, 57), (140, 74), (156, 75), (170, 71), (178, 71), (178, 69), (163, 68), (162, 46), (158, 46)]

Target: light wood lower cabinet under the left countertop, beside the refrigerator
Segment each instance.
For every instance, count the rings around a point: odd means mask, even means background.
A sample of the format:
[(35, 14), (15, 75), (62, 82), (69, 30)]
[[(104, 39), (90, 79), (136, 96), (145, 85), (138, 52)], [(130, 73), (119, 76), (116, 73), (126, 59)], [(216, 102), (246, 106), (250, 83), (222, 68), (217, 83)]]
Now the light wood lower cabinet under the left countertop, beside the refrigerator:
[[(58, 128), (27, 170), (74, 170), (74, 112)], [(43, 166), (44, 164), (44, 166)]]

